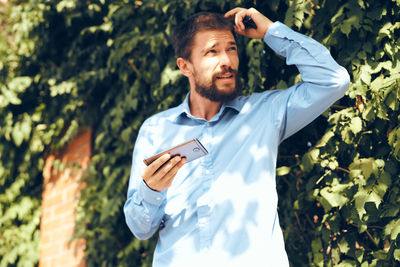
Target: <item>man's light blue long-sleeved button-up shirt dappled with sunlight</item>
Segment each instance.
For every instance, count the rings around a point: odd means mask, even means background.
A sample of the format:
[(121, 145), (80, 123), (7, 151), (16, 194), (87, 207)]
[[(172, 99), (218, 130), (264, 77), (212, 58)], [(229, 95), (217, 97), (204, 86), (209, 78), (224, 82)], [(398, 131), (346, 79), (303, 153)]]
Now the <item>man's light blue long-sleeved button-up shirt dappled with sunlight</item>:
[[(187, 97), (139, 131), (124, 212), (137, 238), (159, 230), (155, 267), (289, 266), (277, 214), (278, 145), (341, 98), (349, 75), (324, 46), (282, 23), (264, 41), (302, 82), (240, 96), (209, 121), (190, 114)], [(169, 189), (149, 189), (143, 159), (193, 138), (209, 153), (185, 164)]]

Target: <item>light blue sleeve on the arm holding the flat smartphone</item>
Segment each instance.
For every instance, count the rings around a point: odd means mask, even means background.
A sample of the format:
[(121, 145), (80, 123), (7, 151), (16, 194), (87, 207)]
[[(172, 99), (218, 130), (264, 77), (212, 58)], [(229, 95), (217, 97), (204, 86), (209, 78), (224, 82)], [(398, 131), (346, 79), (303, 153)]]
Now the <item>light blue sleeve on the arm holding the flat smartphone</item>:
[(165, 192), (150, 189), (141, 176), (146, 167), (144, 151), (151, 146), (146, 132), (144, 123), (134, 147), (128, 197), (124, 205), (126, 223), (138, 239), (148, 239), (159, 229), (165, 206)]

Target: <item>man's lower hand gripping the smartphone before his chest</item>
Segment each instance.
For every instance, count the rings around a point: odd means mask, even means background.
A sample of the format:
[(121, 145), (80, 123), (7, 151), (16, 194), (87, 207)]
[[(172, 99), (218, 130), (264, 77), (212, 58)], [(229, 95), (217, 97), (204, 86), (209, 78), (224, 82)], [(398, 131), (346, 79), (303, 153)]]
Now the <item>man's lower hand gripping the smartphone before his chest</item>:
[(162, 155), (144, 169), (142, 178), (150, 189), (166, 190), (171, 186), (176, 173), (185, 163), (186, 158), (179, 156), (171, 158), (170, 154)]

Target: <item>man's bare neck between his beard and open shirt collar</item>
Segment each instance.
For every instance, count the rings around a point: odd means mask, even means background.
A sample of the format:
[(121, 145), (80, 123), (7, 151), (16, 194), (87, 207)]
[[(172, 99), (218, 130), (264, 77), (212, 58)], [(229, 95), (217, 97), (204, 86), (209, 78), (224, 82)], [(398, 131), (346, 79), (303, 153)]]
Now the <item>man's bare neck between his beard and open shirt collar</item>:
[(196, 92), (196, 90), (190, 90), (189, 106), (190, 114), (196, 118), (211, 120), (221, 108), (221, 102), (213, 102)]

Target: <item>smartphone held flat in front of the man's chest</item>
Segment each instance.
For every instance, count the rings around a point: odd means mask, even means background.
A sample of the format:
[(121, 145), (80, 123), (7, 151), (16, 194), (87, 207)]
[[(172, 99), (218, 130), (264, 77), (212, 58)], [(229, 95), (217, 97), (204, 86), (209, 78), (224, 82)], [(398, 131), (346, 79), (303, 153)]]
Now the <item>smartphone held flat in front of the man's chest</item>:
[(186, 158), (186, 162), (190, 162), (192, 160), (207, 155), (208, 151), (197, 138), (194, 138), (186, 143), (180, 144), (161, 153), (158, 153), (157, 155), (154, 155), (150, 158), (147, 158), (143, 160), (143, 162), (148, 166), (153, 161), (167, 153), (171, 155), (171, 158), (175, 156), (180, 156), (182, 158)]

